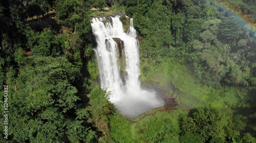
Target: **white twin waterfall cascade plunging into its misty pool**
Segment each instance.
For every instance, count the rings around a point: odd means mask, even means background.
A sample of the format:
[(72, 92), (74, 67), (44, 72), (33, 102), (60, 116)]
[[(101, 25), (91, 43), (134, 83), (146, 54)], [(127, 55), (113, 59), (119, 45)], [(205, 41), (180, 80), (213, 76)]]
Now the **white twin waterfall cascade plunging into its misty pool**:
[(119, 16), (93, 18), (91, 22), (97, 47), (101, 89), (111, 93), (110, 101), (123, 115), (136, 117), (162, 105), (155, 92), (140, 87), (139, 41), (133, 19), (127, 33)]

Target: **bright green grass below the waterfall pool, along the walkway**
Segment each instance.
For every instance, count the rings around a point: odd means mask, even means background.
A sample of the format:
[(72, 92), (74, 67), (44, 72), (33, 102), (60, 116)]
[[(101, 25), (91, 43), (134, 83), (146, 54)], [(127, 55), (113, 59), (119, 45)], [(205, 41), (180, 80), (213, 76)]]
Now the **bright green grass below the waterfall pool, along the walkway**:
[[(172, 111), (159, 111), (153, 115), (146, 116), (135, 124), (127, 121), (119, 116), (110, 116), (110, 133), (115, 141), (119, 142), (141, 142), (146, 136), (144, 127), (150, 126), (154, 122), (161, 123), (168, 119), (172, 122), (175, 131), (179, 131), (180, 115), (187, 115), (188, 110), (176, 109)], [(152, 127), (150, 127), (152, 128)], [(110, 142), (113, 140), (109, 140)]]

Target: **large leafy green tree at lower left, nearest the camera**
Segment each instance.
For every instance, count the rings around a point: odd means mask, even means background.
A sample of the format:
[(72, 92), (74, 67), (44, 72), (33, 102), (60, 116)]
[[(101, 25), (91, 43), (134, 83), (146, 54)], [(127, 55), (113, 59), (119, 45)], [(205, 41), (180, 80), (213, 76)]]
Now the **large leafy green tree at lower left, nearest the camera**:
[(80, 118), (86, 100), (73, 85), (79, 70), (65, 58), (24, 58), (17, 78), (9, 78), (17, 87), (10, 100), (14, 141), (95, 142), (95, 130)]

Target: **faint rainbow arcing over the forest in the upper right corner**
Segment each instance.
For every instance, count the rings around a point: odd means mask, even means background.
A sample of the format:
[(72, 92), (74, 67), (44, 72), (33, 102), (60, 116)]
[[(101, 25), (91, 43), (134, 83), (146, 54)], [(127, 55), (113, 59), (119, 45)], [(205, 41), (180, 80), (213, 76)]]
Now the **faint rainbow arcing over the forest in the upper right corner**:
[[(217, 8), (221, 8), (228, 12), (229, 15), (233, 16), (233, 19), (238, 21), (241, 25), (246, 25), (250, 32), (253, 32), (253, 35), (256, 32), (256, 23), (253, 21), (249, 15), (243, 13), (240, 9), (237, 9), (234, 6), (228, 5), (228, 2), (221, 2), (220, 0), (212, 0), (210, 1), (211, 5), (215, 5)], [(251, 33), (252, 34), (252, 33)]]

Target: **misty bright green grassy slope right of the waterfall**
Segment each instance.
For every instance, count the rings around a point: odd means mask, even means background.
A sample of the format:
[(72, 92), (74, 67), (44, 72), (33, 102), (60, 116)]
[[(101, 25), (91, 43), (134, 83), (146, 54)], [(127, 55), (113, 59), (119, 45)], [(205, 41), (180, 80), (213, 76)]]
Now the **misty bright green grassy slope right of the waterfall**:
[[(147, 71), (144, 71), (145, 68)], [(144, 84), (157, 83), (156, 87), (168, 90), (177, 97), (178, 103), (187, 107), (211, 104), (218, 108), (228, 108), (239, 100), (241, 91), (231, 88), (209, 88), (196, 82), (188, 66), (175, 59), (163, 60), (161, 66), (147, 66), (141, 63), (141, 79)]]

